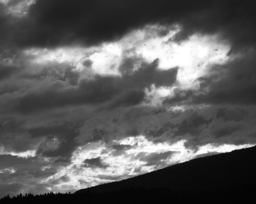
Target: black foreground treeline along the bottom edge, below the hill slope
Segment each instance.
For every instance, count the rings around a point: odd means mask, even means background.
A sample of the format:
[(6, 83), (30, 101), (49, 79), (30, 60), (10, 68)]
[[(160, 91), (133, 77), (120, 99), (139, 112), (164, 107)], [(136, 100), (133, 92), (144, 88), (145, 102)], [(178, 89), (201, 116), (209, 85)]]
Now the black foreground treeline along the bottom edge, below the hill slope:
[(96, 193), (45, 193), (5, 196), (0, 203), (249, 203), (255, 197), (254, 186), (229, 189), (179, 191), (170, 188), (123, 188), (117, 191)]

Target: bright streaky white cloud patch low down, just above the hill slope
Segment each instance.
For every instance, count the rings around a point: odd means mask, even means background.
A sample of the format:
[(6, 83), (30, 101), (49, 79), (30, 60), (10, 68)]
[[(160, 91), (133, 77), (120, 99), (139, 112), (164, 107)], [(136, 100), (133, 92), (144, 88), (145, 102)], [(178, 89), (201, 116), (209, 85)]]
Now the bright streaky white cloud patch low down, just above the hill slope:
[[(78, 189), (87, 188), (100, 183), (121, 180), (176, 163), (185, 162), (201, 154), (210, 152), (217, 154), (253, 146), (252, 144), (238, 146), (228, 144), (207, 144), (199, 147), (198, 151), (188, 151), (184, 146), (186, 140), (180, 140), (174, 144), (153, 143), (142, 135), (121, 140), (113, 140), (112, 142), (113, 144), (127, 145), (128, 148), (118, 151), (112, 149), (108, 144), (103, 142), (88, 143), (84, 146), (79, 146), (73, 153), (71, 165), (62, 167), (57, 174), (48, 177), (43, 180), (42, 183), (47, 183), (50, 180), (68, 175), (70, 177), (68, 181), (64, 184), (57, 184), (53, 189), (63, 188), (62, 186), (67, 184)], [(173, 151), (174, 153), (164, 160), (160, 160), (162, 164), (159, 163), (147, 166), (146, 161), (143, 161), (138, 157), (138, 155), (144, 155), (144, 157), (150, 157), (152, 154), (161, 155), (162, 153), (169, 151)], [(106, 165), (106, 167), (84, 167), (84, 161), (86, 159), (90, 160), (94, 158), (100, 158), (101, 162)]]

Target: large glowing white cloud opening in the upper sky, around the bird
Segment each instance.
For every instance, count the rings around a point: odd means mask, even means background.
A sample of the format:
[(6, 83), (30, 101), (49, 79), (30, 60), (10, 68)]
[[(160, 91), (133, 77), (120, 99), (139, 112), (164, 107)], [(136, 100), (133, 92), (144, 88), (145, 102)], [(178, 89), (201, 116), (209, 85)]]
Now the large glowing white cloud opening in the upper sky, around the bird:
[[(121, 75), (119, 66), (124, 57), (136, 58), (151, 63), (159, 59), (159, 69), (178, 67), (177, 83), (174, 87), (198, 90), (198, 77), (207, 74), (211, 64), (223, 64), (228, 57), (226, 54), (230, 45), (220, 41), (218, 35), (201, 36), (194, 34), (187, 41), (175, 43), (171, 39), (180, 31), (178, 26), (170, 28), (166, 36), (158, 36), (155, 25), (145, 26), (143, 29), (134, 30), (116, 42), (103, 43), (98, 47), (63, 47), (58, 49), (28, 49), (24, 50), (26, 56), (33, 56), (31, 63), (43, 64), (48, 61), (69, 63), (82, 72), (88, 70), (84, 66), (85, 60), (91, 61), (90, 69), (100, 75)], [(144, 45), (146, 44), (146, 46)], [(137, 66), (137, 67), (136, 67)], [(140, 63), (135, 64), (138, 69)], [(81, 77), (87, 77), (88, 71)], [(92, 73), (92, 72), (90, 72)], [(160, 88), (154, 91), (158, 98), (152, 104), (158, 104), (159, 97), (173, 94), (173, 88)], [(148, 93), (149, 95), (153, 94)]]

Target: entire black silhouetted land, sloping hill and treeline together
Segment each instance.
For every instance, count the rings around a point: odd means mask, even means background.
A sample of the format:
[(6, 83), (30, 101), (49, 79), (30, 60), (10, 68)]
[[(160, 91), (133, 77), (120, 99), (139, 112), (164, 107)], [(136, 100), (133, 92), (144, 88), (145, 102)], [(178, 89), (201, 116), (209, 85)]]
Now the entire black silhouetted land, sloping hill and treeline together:
[(248, 203), (255, 196), (256, 146), (194, 159), (73, 194), (5, 197), (0, 203)]

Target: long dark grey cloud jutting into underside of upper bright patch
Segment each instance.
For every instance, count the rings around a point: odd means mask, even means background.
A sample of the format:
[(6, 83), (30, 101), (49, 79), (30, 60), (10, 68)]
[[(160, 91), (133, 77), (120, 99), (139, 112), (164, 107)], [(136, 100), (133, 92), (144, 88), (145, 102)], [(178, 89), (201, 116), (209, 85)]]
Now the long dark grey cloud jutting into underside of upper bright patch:
[(41, 88), (40, 92), (27, 91), (17, 98), (16, 110), (29, 113), (47, 108), (105, 102), (108, 102), (108, 108), (131, 106), (143, 101), (144, 88), (150, 88), (152, 84), (156, 87), (173, 85), (177, 72), (177, 68), (158, 69), (158, 60), (154, 60), (153, 63), (143, 63), (132, 74), (121, 77), (96, 75), (94, 79), (80, 80), (78, 86), (56, 80)]

